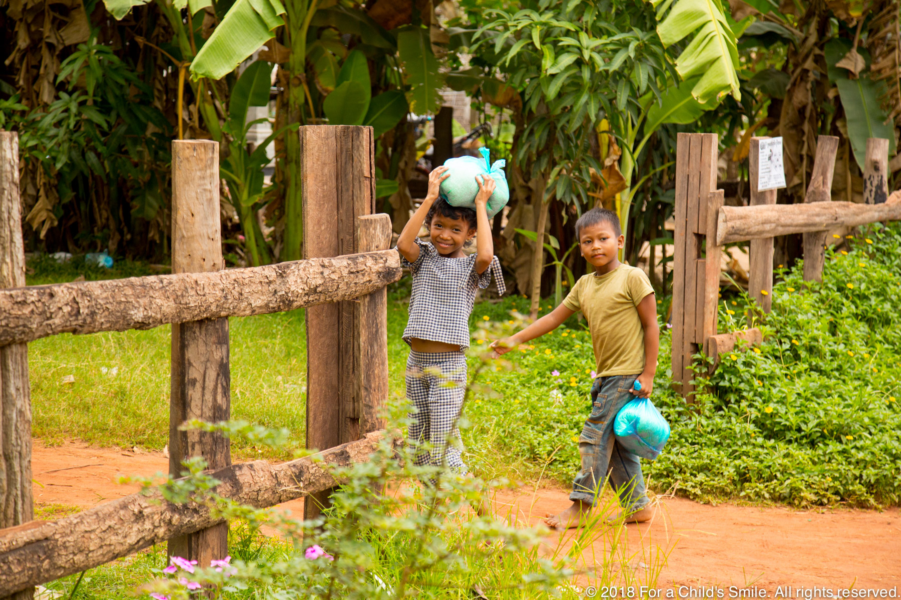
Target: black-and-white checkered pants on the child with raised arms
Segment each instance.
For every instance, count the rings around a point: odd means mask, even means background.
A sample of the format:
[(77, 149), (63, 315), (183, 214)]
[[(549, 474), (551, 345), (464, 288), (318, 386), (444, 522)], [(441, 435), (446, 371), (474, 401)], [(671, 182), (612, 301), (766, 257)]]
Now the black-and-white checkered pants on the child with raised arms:
[[(467, 472), (460, 458), (463, 444), (454, 422), (463, 406), (466, 391), (466, 355), (461, 352), (423, 353), (410, 351), (406, 360), (406, 397), (413, 402), (408, 443), (414, 449), (416, 465), (440, 466), (446, 461), (451, 470)], [(447, 447), (448, 439), (450, 447)], [(421, 443), (432, 446), (418, 451)], [(446, 448), (446, 453), (445, 453)]]

